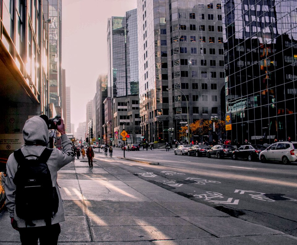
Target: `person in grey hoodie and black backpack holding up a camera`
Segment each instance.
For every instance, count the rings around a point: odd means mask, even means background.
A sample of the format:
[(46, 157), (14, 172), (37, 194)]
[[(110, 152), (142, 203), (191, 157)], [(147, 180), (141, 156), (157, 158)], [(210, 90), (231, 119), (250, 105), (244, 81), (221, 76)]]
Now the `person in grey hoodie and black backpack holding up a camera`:
[(70, 163), (75, 154), (63, 119), (58, 120), (60, 125), (54, 124), (61, 134), (62, 151), (46, 147), (48, 127), (52, 125), (49, 118), (34, 116), (23, 128), (24, 147), (12, 153), (6, 163), (6, 207), (22, 244), (37, 244), (39, 239), (40, 244), (56, 245), (61, 232), (59, 223), (65, 221), (57, 171)]

